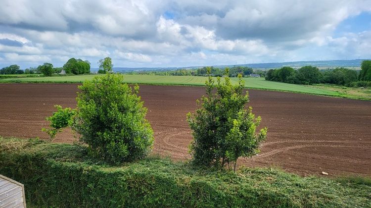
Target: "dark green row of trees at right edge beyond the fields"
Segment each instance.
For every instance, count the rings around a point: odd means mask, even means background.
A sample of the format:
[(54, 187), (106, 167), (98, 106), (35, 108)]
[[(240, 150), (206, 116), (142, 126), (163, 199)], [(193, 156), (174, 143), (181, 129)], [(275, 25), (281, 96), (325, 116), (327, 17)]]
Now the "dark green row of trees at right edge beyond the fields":
[(297, 70), (284, 66), (279, 69), (270, 69), (265, 76), (266, 80), (291, 84), (335, 84), (350, 87), (371, 86), (371, 60), (364, 60), (361, 71), (338, 67), (335, 69), (319, 70), (315, 66), (303, 66)]

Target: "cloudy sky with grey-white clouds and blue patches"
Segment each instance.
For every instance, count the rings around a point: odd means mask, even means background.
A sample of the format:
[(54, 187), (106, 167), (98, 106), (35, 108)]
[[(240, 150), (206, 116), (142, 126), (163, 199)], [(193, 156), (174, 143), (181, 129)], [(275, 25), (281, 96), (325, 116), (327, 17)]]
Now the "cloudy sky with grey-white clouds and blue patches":
[(0, 67), (371, 58), (371, 0), (1, 0)]

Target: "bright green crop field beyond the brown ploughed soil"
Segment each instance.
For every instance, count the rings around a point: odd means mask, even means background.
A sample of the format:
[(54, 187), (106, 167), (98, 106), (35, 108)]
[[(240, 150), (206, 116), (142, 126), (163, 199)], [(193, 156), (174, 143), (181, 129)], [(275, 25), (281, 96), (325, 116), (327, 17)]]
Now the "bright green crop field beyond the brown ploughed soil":
[[(92, 80), (99, 75), (78, 75), (78, 76), (55, 76), (55, 77), (25, 77), (25, 78), (6, 78), (0, 82), (7, 83), (79, 83), (85, 80)], [(325, 89), (311, 88), (303, 85), (294, 85), (280, 82), (266, 81), (264, 78), (243, 78), (245, 87), (251, 89), (288, 91), (306, 94), (316, 94), (325, 96), (339, 96), (343, 94)], [(197, 85), (205, 84), (206, 77), (197, 76), (156, 76), (156, 75), (124, 75), (126, 83), (153, 84), (153, 85)], [(232, 83), (237, 82), (237, 78), (231, 78)]]

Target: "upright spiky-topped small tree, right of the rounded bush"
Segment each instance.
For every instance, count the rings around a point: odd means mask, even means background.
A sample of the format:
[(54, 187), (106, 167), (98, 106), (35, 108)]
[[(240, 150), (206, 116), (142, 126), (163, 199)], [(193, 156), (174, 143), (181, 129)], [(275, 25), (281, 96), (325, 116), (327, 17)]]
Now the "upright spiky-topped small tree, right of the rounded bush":
[(255, 132), (261, 118), (255, 117), (251, 107), (245, 109), (249, 99), (247, 92), (243, 95), (242, 76), (238, 76), (238, 84), (233, 86), (226, 68), (225, 82), (218, 77), (215, 85), (210, 71), (208, 68), (207, 96), (201, 98), (202, 104), (197, 100), (199, 108), (194, 114), (187, 114), (193, 135), (190, 152), (197, 165), (223, 168), (232, 164), (235, 170), (238, 157), (259, 152), (259, 143), (265, 140), (267, 128), (259, 134)]

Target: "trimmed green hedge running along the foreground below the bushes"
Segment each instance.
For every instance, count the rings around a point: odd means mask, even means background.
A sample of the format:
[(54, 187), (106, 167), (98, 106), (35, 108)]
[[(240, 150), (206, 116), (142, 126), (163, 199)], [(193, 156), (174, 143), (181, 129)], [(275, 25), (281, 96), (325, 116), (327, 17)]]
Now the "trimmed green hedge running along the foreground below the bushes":
[(85, 147), (0, 137), (0, 174), (41, 207), (370, 207), (367, 178), (301, 177), (277, 169), (236, 173), (149, 157), (113, 166)]

